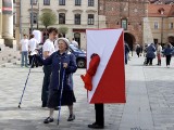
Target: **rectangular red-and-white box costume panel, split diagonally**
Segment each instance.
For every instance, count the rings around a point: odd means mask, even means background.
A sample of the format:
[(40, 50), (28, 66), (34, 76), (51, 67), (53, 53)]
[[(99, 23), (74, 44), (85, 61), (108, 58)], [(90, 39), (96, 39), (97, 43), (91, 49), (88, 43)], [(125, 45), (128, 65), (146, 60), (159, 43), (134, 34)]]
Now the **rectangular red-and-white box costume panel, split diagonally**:
[(123, 29), (91, 29), (87, 35), (87, 69), (94, 53), (100, 63), (92, 77), (88, 102), (125, 103), (125, 65)]

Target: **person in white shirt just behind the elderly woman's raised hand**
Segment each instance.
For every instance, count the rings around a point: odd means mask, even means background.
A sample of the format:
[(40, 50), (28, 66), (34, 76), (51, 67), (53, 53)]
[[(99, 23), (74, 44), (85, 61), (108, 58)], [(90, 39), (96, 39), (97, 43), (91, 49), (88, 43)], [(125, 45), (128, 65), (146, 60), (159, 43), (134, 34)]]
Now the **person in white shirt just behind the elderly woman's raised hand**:
[(35, 35), (30, 35), (30, 40), (29, 40), (29, 65), (32, 67), (36, 66), (38, 67), (38, 63), (36, 60), (34, 60), (34, 55), (32, 55), (32, 52), (34, 52), (37, 49), (38, 41), (35, 39)]

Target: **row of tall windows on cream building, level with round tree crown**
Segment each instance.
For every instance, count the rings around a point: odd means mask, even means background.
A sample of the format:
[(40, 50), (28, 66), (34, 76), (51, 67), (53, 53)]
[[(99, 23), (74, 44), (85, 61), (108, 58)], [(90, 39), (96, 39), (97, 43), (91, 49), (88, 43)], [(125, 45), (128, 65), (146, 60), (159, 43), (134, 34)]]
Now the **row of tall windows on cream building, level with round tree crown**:
[[(32, 13), (30, 13), (30, 17), (32, 17)], [(34, 24), (38, 23), (38, 14), (37, 13), (33, 13), (33, 20), (34, 20)], [(32, 18), (30, 18), (32, 20)], [(82, 15), (80, 14), (74, 14), (74, 24), (75, 25), (80, 25), (82, 22)], [(94, 14), (88, 14), (88, 25), (94, 25), (95, 24), (95, 15)], [(65, 24), (65, 13), (59, 13), (59, 24)]]

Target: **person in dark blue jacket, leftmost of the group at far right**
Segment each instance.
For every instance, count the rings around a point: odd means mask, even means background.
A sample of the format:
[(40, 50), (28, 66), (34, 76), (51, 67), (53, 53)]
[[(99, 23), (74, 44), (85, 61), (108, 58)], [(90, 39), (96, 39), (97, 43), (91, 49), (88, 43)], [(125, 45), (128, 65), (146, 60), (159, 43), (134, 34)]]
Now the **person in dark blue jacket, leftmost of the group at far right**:
[(156, 57), (156, 54), (154, 54), (154, 52), (156, 52), (154, 43), (151, 43), (149, 47), (147, 47), (146, 51), (147, 51), (147, 54), (146, 54), (147, 63), (146, 63), (146, 65), (152, 65), (152, 61)]

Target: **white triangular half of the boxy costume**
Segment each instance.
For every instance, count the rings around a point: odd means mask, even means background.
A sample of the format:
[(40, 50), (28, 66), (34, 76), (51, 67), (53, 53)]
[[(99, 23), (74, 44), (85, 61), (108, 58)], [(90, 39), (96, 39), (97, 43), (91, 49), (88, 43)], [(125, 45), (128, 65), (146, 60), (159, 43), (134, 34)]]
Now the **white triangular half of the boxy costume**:
[(92, 91), (88, 91), (88, 102), (90, 103), (108, 62), (115, 49), (123, 29), (99, 29), (87, 30), (87, 68), (89, 67), (90, 55), (99, 54), (101, 61), (98, 66), (96, 76), (92, 79)]

